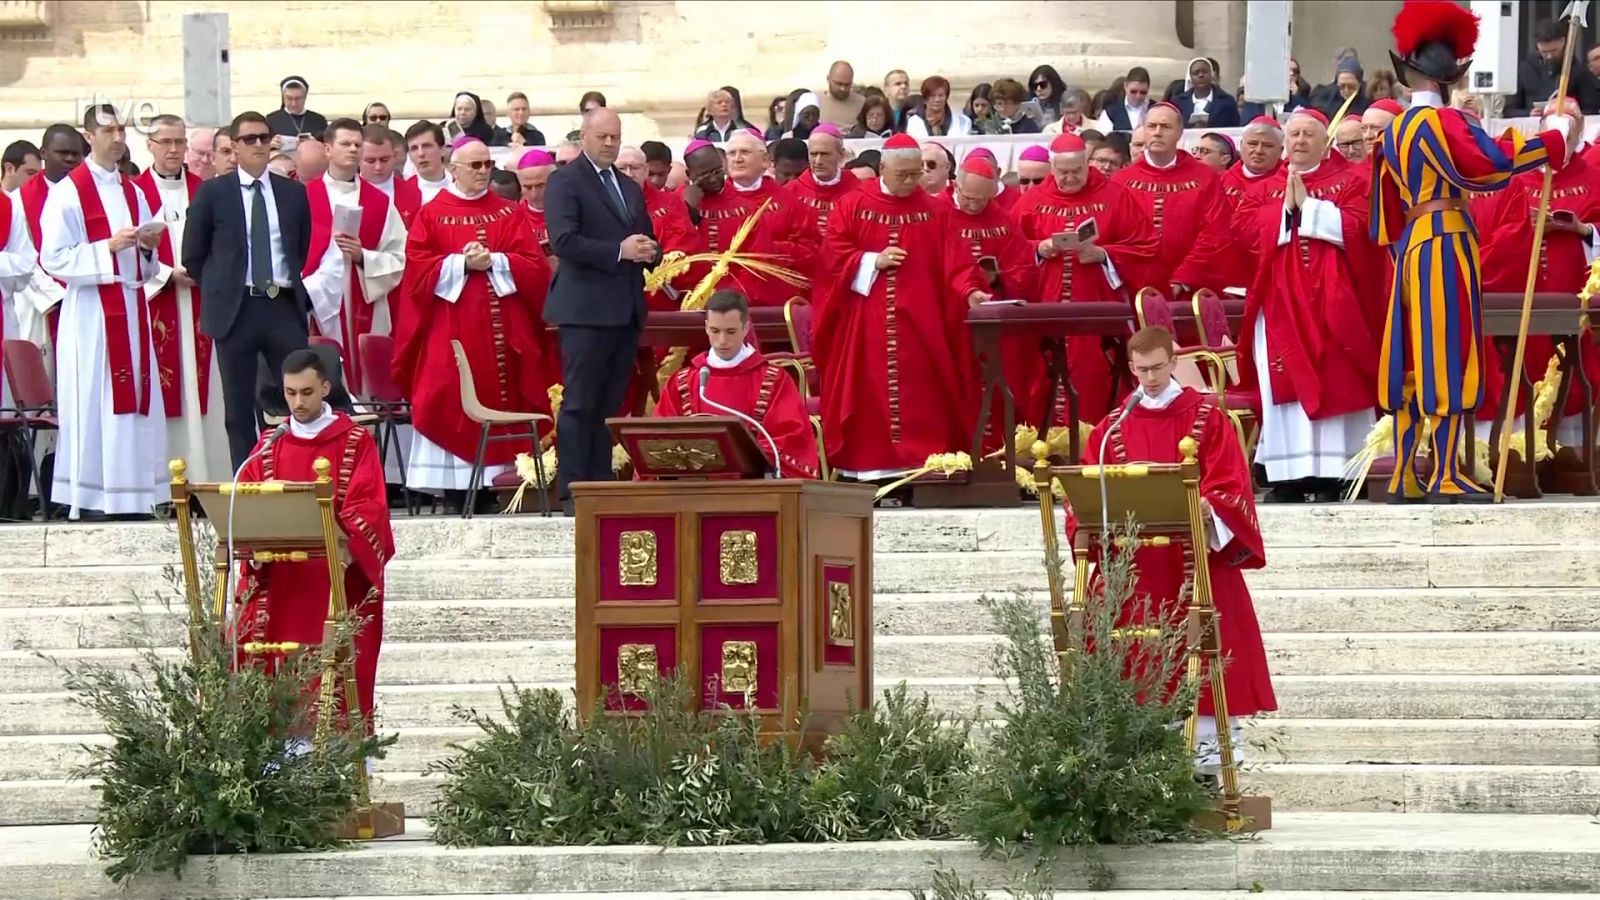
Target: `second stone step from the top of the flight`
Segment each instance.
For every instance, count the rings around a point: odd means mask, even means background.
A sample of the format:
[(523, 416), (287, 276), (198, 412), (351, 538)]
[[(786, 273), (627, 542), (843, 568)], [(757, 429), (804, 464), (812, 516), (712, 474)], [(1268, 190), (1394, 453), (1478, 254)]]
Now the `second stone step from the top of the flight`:
[[(1269, 565), (1246, 572), (1253, 591), (1373, 588), (1597, 588), (1594, 546), (1290, 548), (1269, 552)], [(872, 560), (874, 593), (944, 594), (1043, 591), (1037, 551), (880, 552)], [(571, 557), (480, 560), (400, 559), (387, 570), (390, 601), (498, 601), (574, 596)], [(0, 605), (75, 607), (176, 601), (170, 565), (0, 569)]]

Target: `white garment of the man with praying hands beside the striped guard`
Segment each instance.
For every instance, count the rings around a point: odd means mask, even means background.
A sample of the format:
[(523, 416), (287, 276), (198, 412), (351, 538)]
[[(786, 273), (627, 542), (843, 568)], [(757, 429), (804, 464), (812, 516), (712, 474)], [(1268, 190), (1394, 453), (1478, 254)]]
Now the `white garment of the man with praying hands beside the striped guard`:
[[(1304, 175), (1315, 171), (1312, 167)], [(1285, 200), (1288, 211), (1288, 200)], [(1307, 199), (1301, 205), (1301, 237), (1344, 247), (1344, 216), (1326, 200)], [(1288, 216), (1278, 231), (1278, 247), (1293, 240)], [(1256, 351), (1256, 381), (1261, 384), (1261, 439), (1256, 463), (1267, 469), (1269, 482), (1299, 479), (1342, 479), (1344, 466), (1366, 444), (1373, 429), (1373, 410), (1355, 410), (1314, 420), (1299, 400), (1280, 404), (1272, 397), (1272, 357), (1267, 356), (1267, 315), (1256, 315), (1251, 335)]]

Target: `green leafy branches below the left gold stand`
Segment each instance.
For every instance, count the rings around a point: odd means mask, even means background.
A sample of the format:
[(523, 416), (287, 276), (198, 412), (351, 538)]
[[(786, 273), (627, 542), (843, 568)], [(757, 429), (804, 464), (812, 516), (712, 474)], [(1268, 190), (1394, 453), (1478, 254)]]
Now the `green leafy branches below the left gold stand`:
[(310, 733), (320, 669), (315, 653), (275, 673), (229, 671), (216, 629), (202, 660), (144, 647), (131, 668), (62, 666), (75, 701), (104, 722), (110, 741), (85, 746), (74, 778), (101, 793), (94, 850), (123, 882), (144, 873), (181, 876), (189, 854), (272, 854), (339, 844), (366, 757), (394, 737), (330, 729), (320, 753), (291, 756), (286, 735)]

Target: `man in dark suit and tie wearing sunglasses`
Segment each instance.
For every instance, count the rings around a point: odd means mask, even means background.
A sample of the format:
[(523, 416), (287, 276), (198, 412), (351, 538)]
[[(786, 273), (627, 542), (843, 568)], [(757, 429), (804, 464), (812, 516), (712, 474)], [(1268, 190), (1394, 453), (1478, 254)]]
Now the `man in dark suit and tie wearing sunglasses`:
[(301, 285), (310, 250), (306, 187), (267, 171), (272, 130), (259, 112), (229, 125), (234, 175), (200, 186), (189, 205), (182, 263), (200, 285), (200, 330), (216, 343), (227, 445), (240, 466), (261, 436), (258, 359), (275, 378), (307, 344), (310, 301)]

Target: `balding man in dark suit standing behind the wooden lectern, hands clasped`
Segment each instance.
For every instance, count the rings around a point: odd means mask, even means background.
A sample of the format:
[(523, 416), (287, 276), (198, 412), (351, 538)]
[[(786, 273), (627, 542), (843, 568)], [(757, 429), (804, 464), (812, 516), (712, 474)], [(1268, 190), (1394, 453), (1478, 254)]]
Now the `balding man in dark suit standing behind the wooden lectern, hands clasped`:
[(645, 327), (645, 267), (661, 256), (645, 195), (616, 171), (622, 122), (584, 114), (584, 155), (555, 170), (544, 191), (550, 248), (562, 264), (544, 320), (560, 330), (562, 412), (555, 423), (557, 492), (571, 514), (571, 484), (611, 479), (605, 420), (627, 396)]

